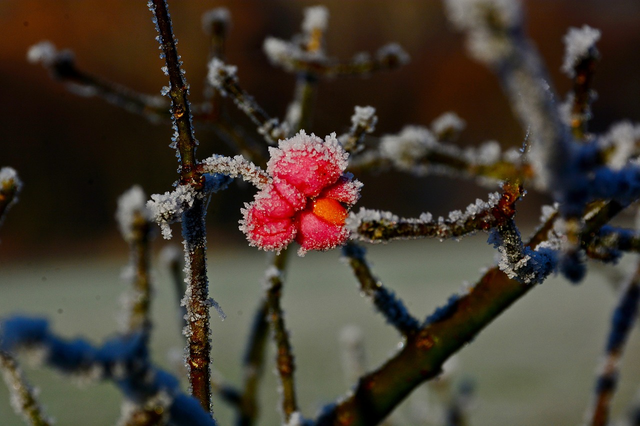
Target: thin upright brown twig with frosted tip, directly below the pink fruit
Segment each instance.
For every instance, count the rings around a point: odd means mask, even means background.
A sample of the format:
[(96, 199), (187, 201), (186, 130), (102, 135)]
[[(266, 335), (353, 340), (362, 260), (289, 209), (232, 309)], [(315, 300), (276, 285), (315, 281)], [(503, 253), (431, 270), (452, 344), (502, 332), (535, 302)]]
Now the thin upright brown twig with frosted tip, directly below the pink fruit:
[(280, 251), (274, 257), (273, 266), (268, 269), (266, 280), (266, 302), (269, 307), (269, 324), (276, 345), (276, 370), (282, 386), (282, 414), (284, 423), (289, 422), (292, 414), (298, 411), (296, 387), (294, 381), (294, 357), (289, 342), (289, 333), (284, 324), (284, 316), (280, 306), (284, 268), (288, 250)]

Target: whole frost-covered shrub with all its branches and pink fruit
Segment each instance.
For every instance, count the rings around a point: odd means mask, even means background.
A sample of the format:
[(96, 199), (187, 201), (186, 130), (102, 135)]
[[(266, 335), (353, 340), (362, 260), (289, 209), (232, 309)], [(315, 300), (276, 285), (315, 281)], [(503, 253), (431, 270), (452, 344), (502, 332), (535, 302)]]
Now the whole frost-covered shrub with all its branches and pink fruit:
[[(524, 143), (525, 149), (503, 151), (497, 141), (477, 148), (456, 145), (465, 121), (452, 112), (435, 118), (429, 127), (406, 123), (395, 134), (376, 136), (376, 125), (383, 120), (376, 107), (353, 106), (350, 127), (349, 117), (344, 117), (343, 122), (334, 124), (329, 136), (316, 136), (312, 117), (319, 80), (370, 75), (410, 63), (397, 43), (388, 43), (373, 55), (356, 54), (350, 61), (333, 58), (324, 40), (330, 31), (330, 11), (324, 6), (305, 10), (301, 33), (291, 40), (268, 37), (264, 41), (269, 61), (296, 77), (284, 117), (260, 106), (241, 86), (242, 68), (225, 61), (231, 16), (223, 8), (204, 14), (202, 25), (211, 38), (211, 55), (204, 100), (191, 104), (168, 4), (166, 0), (150, 0), (148, 8), (164, 62), (161, 72), (169, 79), (159, 90), (162, 97), (136, 93), (84, 72), (71, 52), (58, 51), (51, 42), (40, 42), (27, 53), (29, 62), (43, 65), (74, 93), (101, 97), (154, 122), (171, 123), (168, 139), (179, 161), (177, 180), (173, 187), (166, 182), (164, 194), (147, 199), (143, 190), (134, 186), (118, 201), (116, 217), (130, 252), (124, 276), (132, 287), (125, 299), (127, 315), (122, 316), (126, 322), (118, 335), (94, 344), (56, 335), (45, 319), (1, 320), (0, 368), (12, 391), (13, 406), (29, 424), (50, 423), (20, 370), (20, 351), (38, 352), (50, 367), (85, 381), (113, 381), (124, 395), (123, 425), (216, 425), (214, 393), (234, 408), (237, 425), (253, 425), (258, 421), (257, 388), (269, 336), (276, 348), (279, 383), (275, 391), (280, 392), (282, 425), (392, 424), (394, 420), (388, 416), (407, 395), (441, 375), (447, 359), (548, 276), (559, 272), (579, 283), (589, 259), (614, 264), (624, 253), (640, 252), (640, 231), (611, 223), (623, 210), (634, 209), (640, 199), (640, 126), (622, 121), (603, 134), (589, 131), (590, 106), (595, 98), (593, 73), (600, 57), (596, 42), (601, 34), (597, 29), (572, 28), (564, 38), (562, 69), (573, 86), (565, 102), (558, 104), (545, 65), (525, 33), (525, 12), (519, 2), (444, 1), (449, 19), (467, 36), (471, 56), (496, 72), (522, 124), (522, 140), (512, 145)], [(230, 104), (246, 114), (251, 130), (242, 129), (228, 114), (220, 113)], [(196, 123), (214, 127), (232, 146), (234, 156), (217, 152), (207, 153), (208, 157), (198, 155)], [(340, 129), (348, 131), (337, 137)], [(416, 178), (452, 175), (490, 187), (490, 193), (440, 217), (420, 211), (413, 217), (401, 217), (392, 210), (366, 205), (352, 210), (363, 187), (359, 179), (365, 180), (360, 174), (369, 170), (396, 170)], [(212, 194), (232, 187), (236, 178), (257, 189), (253, 200), (246, 200), (239, 212), (242, 218), (237, 232), (245, 234), (250, 246), (269, 252), (269, 266), (262, 278), (264, 295), (248, 333), (242, 361), (244, 381), (239, 385), (226, 383), (224, 372), (212, 372), (210, 310), (216, 309), (223, 319), (224, 313), (209, 294), (205, 222)], [(15, 170), (0, 170), (0, 221), (15, 205), (21, 188)], [(524, 239), (516, 212), (527, 191), (546, 194), (554, 206), (543, 207), (538, 228)], [(150, 244), (156, 225), (165, 239), (171, 239), (171, 226), (176, 223), (183, 240), (184, 269), (180, 271), (181, 256), (175, 250), (165, 251), (165, 258), (184, 308), (188, 390), (154, 365), (149, 347), (154, 331)], [(374, 274), (364, 248), (364, 244), (388, 243), (386, 249), (392, 249), (398, 239), (442, 241), (483, 232), (496, 249), (493, 267), (424, 318), (416, 317)], [(353, 386), (319, 413), (303, 413), (298, 404), (289, 338), (289, 329), (296, 324), (285, 324), (282, 308), (287, 253), (292, 245), (298, 246), (301, 256), (309, 250), (341, 248), (342, 260), (353, 272), (360, 292), (371, 299), (402, 340), (385, 363), (367, 370), (362, 336), (353, 328), (347, 329), (343, 333), (347, 347), (344, 365), (352, 370), (346, 376)], [(588, 410), (591, 425), (610, 422), (620, 357), (637, 317), (639, 283), (640, 272), (636, 271), (621, 286)], [(465, 424), (466, 416), (472, 415), (467, 407), (473, 386), (467, 383), (454, 391), (447, 375), (441, 379), (440, 393), (449, 398), (441, 410), (447, 424)], [(431, 414), (423, 414), (415, 416), (416, 422), (429, 422)]]

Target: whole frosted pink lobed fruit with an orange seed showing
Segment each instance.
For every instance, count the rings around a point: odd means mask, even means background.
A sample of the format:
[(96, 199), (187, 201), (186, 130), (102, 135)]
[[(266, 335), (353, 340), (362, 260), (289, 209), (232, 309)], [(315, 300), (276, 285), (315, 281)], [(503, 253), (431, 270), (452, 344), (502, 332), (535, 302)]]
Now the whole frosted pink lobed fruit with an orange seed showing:
[(269, 148), (267, 173), (273, 179), (245, 205), (240, 229), (252, 246), (280, 251), (292, 241), (307, 250), (328, 250), (344, 244), (348, 210), (360, 198), (358, 180), (344, 173), (347, 154), (335, 138), (300, 130)]

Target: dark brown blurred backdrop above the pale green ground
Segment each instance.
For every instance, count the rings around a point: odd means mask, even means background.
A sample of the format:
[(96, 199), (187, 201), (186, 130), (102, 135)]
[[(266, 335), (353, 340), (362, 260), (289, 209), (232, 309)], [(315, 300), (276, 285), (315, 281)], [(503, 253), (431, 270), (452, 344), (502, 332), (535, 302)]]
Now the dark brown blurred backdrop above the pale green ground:
[[(294, 77), (269, 65), (262, 53), (266, 36), (289, 38), (298, 32), (303, 8), (317, 1), (243, 0), (171, 1), (191, 100), (201, 99), (206, 73), (207, 38), (200, 17), (209, 8), (232, 13), (227, 44), (229, 63), (239, 68), (241, 84), (269, 113), (282, 116), (291, 99)], [(344, 132), (354, 105), (372, 105), (380, 118), (376, 134), (397, 132), (408, 123), (428, 125), (440, 113), (455, 111), (468, 127), (461, 145), (496, 139), (503, 148), (522, 143), (493, 75), (468, 59), (463, 38), (445, 20), (440, 1), (322, 2), (330, 10), (328, 51), (348, 59), (358, 51), (375, 52), (387, 42), (403, 45), (410, 65), (370, 77), (323, 81), (312, 129), (325, 135)], [(602, 61), (596, 75), (599, 99), (592, 129), (612, 122), (640, 121), (640, 3), (637, 0), (526, 1), (529, 33), (547, 61), (562, 96), (570, 84), (561, 75), (562, 37), (569, 26), (589, 24), (602, 30)], [(0, 2), (0, 166), (12, 166), (24, 181), (20, 203), (0, 229), (0, 254), (75, 251), (106, 254), (122, 248), (113, 215), (118, 196), (141, 184), (147, 193), (171, 189), (177, 177), (168, 148), (169, 125), (154, 125), (95, 98), (69, 93), (44, 68), (26, 61), (29, 46), (51, 40), (76, 53), (83, 70), (144, 93), (166, 84), (160, 67), (156, 31), (145, 1), (3, 0)], [(241, 123), (252, 129), (248, 120)], [(232, 154), (214, 134), (196, 127), (199, 157)], [(424, 210), (445, 214), (464, 208), (485, 188), (443, 177), (414, 179), (397, 173), (358, 176), (365, 183), (360, 205), (415, 216)], [(380, 194), (385, 194), (381, 196)], [(214, 199), (209, 223), (218, 226), (213, 242), (243, 244), (237, 231), (239, 209), (253, 190), (234, 184)], [(529, 201), (531, 200), (531, 201)], [(544, 198), (524, 201), (522, 220), (538, 215)]]

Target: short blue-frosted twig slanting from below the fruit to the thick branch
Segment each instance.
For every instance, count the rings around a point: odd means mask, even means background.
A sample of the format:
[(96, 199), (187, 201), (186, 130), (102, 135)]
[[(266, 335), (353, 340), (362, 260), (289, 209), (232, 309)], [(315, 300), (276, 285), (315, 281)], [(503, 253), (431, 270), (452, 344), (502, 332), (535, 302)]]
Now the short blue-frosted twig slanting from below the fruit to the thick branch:
[(374, 306), (387, 319), (387, 322), (404, 336), (416, 333), (420, 326), (418, 320), (412, 317), (404, 303), (392, 291), (387, 290), (381, 281), (373, 276), (365, 259), (365, 249), (354, 242), (349, 242), (342, 248), (342, 254), (353, 269), (360, 283), (360, 290), (371, 297)]

